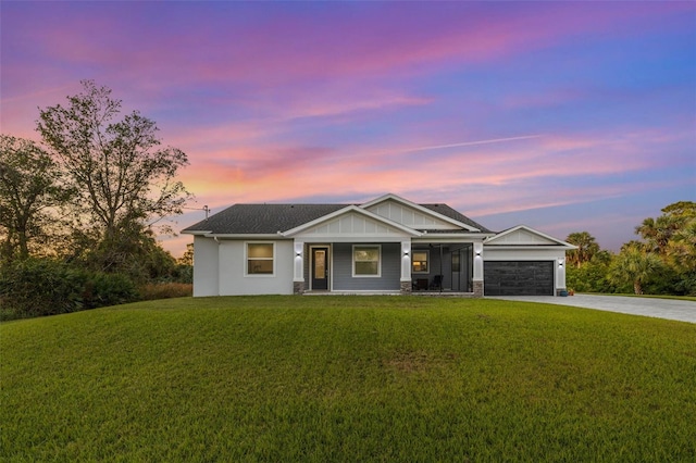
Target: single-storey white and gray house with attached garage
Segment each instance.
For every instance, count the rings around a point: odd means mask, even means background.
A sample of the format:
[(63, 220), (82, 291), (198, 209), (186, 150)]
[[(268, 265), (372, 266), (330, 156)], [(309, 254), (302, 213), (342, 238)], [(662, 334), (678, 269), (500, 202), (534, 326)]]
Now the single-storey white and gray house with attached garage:
[(194, 236), (194, 296), (304, 292), (481, 296), (566, 289), (566, 251), (527, 226), (495, 233), (447, 204), (235, 204)]

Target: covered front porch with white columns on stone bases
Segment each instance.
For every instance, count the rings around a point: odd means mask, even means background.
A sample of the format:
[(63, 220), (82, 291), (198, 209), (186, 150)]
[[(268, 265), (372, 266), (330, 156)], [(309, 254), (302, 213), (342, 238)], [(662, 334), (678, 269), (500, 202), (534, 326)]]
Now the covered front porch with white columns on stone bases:
[(482, 242), (436, 239), (296, 240), (294, 292), (482, 296)]

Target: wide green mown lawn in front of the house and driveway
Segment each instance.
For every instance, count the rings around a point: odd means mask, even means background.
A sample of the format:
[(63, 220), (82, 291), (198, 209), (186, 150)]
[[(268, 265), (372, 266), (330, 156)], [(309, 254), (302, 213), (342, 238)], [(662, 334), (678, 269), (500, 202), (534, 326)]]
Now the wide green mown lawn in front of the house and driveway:
[(695, 461), (696, 325), (408, 297), (0, 326), (2, 461)]

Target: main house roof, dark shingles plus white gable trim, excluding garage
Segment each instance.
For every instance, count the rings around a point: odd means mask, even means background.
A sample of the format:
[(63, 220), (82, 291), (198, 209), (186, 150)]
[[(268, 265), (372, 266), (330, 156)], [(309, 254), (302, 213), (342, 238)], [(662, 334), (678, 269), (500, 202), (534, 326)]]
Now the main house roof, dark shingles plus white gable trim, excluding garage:
[[(364, 204), (234, 204), (210, 217), (182, 230), (190, 235), (275, 235), (278, 232), (296, 232), (310, 223), (321, 222), (322, 217), (339, 214), (347, 208), (361, 209), (370, 215), (365, 207), (376, 204), (386, 199), (396, 199), (405, 204), (413, 204), (428, 214), (444, 217), (452, 224), (460, 224), (467, 232), (492, 234), (489, 229), (477, 224), (447, 204), (414, 204), (395, 195), (386, 195)], [(385, 222), (394, 221), (382, 217)], [(402, 227), (402, 225), (399, 225)], [(419, 229), (431, 232), (428, 229)], [(436, 232), (436, 230), (433, 230)], [(452, 232), (452, 230), (450, 230)]]

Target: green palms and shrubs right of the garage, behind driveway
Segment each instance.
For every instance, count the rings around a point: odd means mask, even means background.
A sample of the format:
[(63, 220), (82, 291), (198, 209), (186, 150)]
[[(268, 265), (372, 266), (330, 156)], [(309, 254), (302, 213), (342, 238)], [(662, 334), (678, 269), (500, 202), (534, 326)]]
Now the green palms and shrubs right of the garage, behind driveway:
[(567, 285), (581, 292), (696, 296), (696, 203), (679, 201), (635, 227), (639, 239), (619, 253), (600, 249), (588, 232), (572, 233)]

